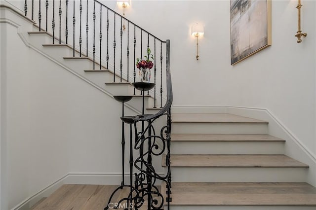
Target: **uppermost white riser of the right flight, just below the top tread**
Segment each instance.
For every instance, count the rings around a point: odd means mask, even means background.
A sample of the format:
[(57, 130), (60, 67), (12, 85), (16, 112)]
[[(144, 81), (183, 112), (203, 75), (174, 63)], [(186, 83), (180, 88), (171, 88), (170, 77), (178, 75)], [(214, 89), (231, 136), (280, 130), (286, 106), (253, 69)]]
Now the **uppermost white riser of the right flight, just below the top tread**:
[(177, 123), (172, 122), (175, 134), (267, 134), (265, 123)]

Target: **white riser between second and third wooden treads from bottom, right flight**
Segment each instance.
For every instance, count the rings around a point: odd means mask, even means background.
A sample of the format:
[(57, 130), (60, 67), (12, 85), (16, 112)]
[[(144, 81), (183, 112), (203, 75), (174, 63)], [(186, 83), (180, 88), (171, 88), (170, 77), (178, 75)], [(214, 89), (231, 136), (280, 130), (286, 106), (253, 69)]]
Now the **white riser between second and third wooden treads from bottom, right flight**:
[(171, 154), (283, 154), (283, 142), (173, 141)]

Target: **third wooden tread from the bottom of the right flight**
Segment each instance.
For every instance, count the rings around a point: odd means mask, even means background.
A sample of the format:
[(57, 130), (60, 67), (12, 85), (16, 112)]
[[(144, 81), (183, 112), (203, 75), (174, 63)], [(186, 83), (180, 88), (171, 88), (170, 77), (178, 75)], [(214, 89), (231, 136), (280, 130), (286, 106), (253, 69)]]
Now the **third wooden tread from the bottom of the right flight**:
[(285, 141), (267, 134), (171, 134), (172, 141)]

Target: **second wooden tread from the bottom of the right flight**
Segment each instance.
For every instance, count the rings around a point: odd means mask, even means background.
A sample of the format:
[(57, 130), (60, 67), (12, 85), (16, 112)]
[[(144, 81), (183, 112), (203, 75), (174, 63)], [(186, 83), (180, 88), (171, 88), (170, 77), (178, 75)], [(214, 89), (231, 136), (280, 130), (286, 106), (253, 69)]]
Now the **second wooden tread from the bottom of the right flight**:
[[(165, 155), (162, 157), (165, 165)], [(286, 155), (171, 154), (171, 167), (308, 168)]]

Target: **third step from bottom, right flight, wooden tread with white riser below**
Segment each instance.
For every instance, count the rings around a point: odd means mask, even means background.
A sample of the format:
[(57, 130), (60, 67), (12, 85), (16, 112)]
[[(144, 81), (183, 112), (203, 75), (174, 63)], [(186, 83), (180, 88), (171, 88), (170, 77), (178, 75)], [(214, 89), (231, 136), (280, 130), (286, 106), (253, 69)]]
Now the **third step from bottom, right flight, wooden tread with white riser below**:
[(270, 135), (171, 134), (172, 154), (284, 154), (285, 140)]

